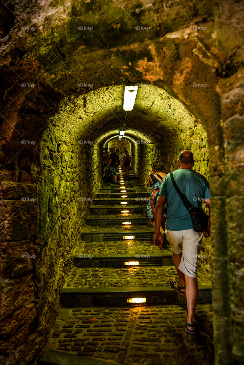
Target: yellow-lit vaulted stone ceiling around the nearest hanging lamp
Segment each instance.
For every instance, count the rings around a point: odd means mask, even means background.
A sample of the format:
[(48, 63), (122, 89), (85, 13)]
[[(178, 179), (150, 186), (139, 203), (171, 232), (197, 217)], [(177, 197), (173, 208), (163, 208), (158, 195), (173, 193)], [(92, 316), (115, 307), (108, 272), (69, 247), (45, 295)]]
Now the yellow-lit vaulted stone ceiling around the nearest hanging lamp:
[[(124, 86), (115, 85), (91, 91), (86, 95), (66, 97), (59, 111), (50, 119), (54, 127), (69, 132), (74, 138), (100, 142), (115, 137), (123, 127)], [(154, 85), (140, 87), (132, 111), (127, 113), (125, 131), (134, 140), (153, 141), (167, 135), (180, 134), (198, 124), (191, 113), (164, 89)]]

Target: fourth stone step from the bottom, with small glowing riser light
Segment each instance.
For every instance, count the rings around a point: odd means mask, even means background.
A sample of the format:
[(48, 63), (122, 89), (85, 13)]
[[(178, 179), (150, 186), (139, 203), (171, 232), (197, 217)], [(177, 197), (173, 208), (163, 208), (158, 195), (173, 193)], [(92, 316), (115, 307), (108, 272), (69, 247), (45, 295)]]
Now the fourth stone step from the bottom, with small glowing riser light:
[(105, 217), (89, 217), (86, 218), (86, 224), (89, 226), (108, 226), (108, 227), (116, 227), (121, 228), (125, 226), (149, 226), (152, 227), (151, 221), (149, 218), (140, 217), (140, 218), (127, 218), (127, 217), (119, 217), (119, 218), (108, 218)]

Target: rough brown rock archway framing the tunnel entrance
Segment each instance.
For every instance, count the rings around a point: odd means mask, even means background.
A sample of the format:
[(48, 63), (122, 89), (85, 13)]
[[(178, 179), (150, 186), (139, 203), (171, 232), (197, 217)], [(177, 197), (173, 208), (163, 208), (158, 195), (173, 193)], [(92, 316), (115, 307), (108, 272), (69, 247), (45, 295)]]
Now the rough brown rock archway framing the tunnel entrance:
[[(74, 92), (88, 94), (90, 87), (80, 87), (78, 84), (88, 85), (95, 80), (94, 90), (109, 88), (112, 84), (121, 85), (121, 82), (150, 82), (155, 87), (165, 89), (185, 105), (208, 134), (213, 196), (212, 267), (216, 361), (228, 363), (230, 357), (232, 362), (241, 361), (243, 350), (240, 318), (243, 308), (240, 298), (243, 297), (243, 259), (239, 250), (242, 245), (239, 226), (242, 217), (240, 184), (243, 184), (243, 71), (240, 24), (243, 4), (237, 2), (233, 5), (230, 1), (223, 1), (218, 7), (207, 2), (204, 9), (197, 2), (191, 8), (183, 4), (184, 9), (181, 9), (181, 5), (172, 3), (158, 4), (158, 9), (144, 3), (136, 9), (133, 4), (127, 4), (126, 15), (124, 11), (117, 11), (115, 4), (102, 8), (103, 4), (98, 3), (97, 8), (93, 3), (84, 6), (79, 3), (67, 4), (67, 7), (72, 7), (68, 8), (71, 10), (69, 12), (65, 12), (65, 6), (56, 3), (29, 5), (23, 1), (8, 6), (7, 13), (12, 12), (14, 16), (11, 15), (12, 28), (4, 25), (1, 48), (1, 58), (4, 60), (1, 65), (3, 137), (0, 142), (1, 210), (4, 211), (1, 222), (2, 286), (3, 308), (8, 308), (4, 317), (7, 329), (4, 332), (6, 342), (3, 353), (7, 351), (13, 354), (18, 346), (21, 354), (24, 341), (31, 347), (29, 332), (35, 338), (40, 335), (37, 340), (40, 343), (40, 338), (47, 333), (42, 324), (49, 320), (50, 311), (57, 311), (58, 305), (49, 307), (51, 296), (46, 290), (49, 283), (51, 287), (56, 285), (53, 266), (46, 274), (42, 272), (43, 268), (38, 268), (37, 262), (19, 261), (22, 252), (34, 253), (40, 245), (41, 227), (38, 222), (40, 216), (43, 216), (37, 201), (26, 201), (28, 204), (24, 206), (20, 205), (20, 199), (37, 196), (38, 191), (40, 193), (40, 189), (43, 189), (42, 185), (45, 185), (46, 181), (42, 180), (44, 171), (40, 142), (44, 130), (47, 131), (46, 124), (50, 123), (52, 116), (55, 120), (55, 115), (59, 112), (60, 101)], [(29, 6), (29, 14), (33, 14), (31, 19), (26, 12), (26, 7)], [(105, 26), (100, 26), (99, 23), (100, 10), (104, 11), (102, 16)], [(113, 24), (109, 20), (111, 11), (115, 14)], [(80, 18), (75, 20), (72, 12), (95, 14), (93, 26), (97, 27), (100, 38), (97, 33), (78, 33)], [(56, 17), (57, 14), (61, 16)], [(147, 26), (151, 19), (157, 20), (151, 26), (151, 32), (141, 32), (140, 41), (137, 41), (139, 34), (135, 24)], [(72, 24), (74, 28), (71, 27)], [(199, 29), (199, 24), (207, 26), (208, 30)], [(26, 31), (26, 25), (35, 26), (37, 33), (34, 35), (31, 29)], [(21, 29), (22, 26), (25, 29)], [(227, 35), (228, 30), (231, 37)], [(28, 83), (36, 86), (21, 86)], [(206, 83), (206, 88), (199, 86)], [(70, 98), (72, 104), (75, 99), (73, 96)], [(83, 100), (86, 105), (86, 98)], [(55, 127), (55, 123), (52, 127)], [(71, 126), (69, 128), (72, 130)], [(50, 135), (49, 137), (51, 138)], [(35, 141), (35, 144), (22, 144), (22, 140)], [(59, 147), (55, 141), (53, 145)], [(53, 160), (56, 158), (55, 151), (51, 151)], [(146, 155), (147, 151), (144, 152)], [(50, 166), (47, 176), (51, 181), (52, 174), (54, 172)], [(45, 191), (42, 193), (45, 196)], [(42, 204), (44, 209), (45, 204)], [(233, 205), (234, 209), (229, 208)], [(59, 203), (56, 204), (56, 212), (58, 206)], [(21, 248), (13, 253), (13, 247), (18, 242), (21, 242)], [(44, 260), (45, 253), (40, 256)], [(63, 256), (59, 266), (61, 269), (68, 266), (68, 257), (69, 254)], [(17, 264), (14, 272), (13, 260)], [(226, 277), (229, 300), (226, 299)], [(55, 290), (57, 295), (57, 286)], [(42, 295), (44, 291), (46, 297)], [(25, 296), (22, 297), (21, 293), (25, 293)], [(16, 300), (17, 298), (19, 299)], [(23, 323), (26, 314), (30, 320)], [(18, 330), (19, 322), (23, 326), (22, 334)], [(7, 339), (13, 333), (16, 334), (16, 341), (10, 342), (7, 350)], [(30, 351), (29, 360), (34, 353), (38, 353), (38, 346)]]

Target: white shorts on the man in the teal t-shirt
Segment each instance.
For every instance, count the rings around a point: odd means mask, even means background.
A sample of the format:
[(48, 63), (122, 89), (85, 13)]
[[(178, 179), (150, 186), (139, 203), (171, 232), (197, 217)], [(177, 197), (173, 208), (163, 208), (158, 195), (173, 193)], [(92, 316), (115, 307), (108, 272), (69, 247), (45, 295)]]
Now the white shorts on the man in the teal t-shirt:
[(180, 271), (187, 276), (196, 278), (203, 232), (195, 232), (191, 228), (183, 231), (165, 230), (165, 233), (173, 253), (179, 254), (182, 252), (179, 265)]

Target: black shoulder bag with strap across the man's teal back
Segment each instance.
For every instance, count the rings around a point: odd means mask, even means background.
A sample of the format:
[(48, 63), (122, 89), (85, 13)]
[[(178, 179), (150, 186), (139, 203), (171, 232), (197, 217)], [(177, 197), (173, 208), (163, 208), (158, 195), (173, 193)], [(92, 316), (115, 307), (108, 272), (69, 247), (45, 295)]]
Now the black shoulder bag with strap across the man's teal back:
[(187, 209), (191, 217), (193, 230), (195, 232), (205, 232), (207, 230), (207, 225), (209, 223), (209, 216), (204, 213), (202, 208), (191, 208), (186, 197), (181, 193), (180, 189), (177, 187), (172, 172), (170, 172), (170, 178), (174, 185), (174, 188), (176, 189), (177, 193), (180, 196), (180, 199), (183, 201), (184, 207)]

